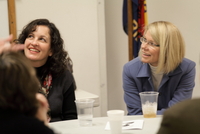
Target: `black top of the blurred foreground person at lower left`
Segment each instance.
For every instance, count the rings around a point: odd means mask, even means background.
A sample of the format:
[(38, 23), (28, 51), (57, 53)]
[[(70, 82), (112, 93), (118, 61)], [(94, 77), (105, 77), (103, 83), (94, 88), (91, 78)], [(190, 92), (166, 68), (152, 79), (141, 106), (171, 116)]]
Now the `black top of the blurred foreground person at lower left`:
[(10, 110), (0, 109), (0, 134), (54, 134), (44, 122)]

